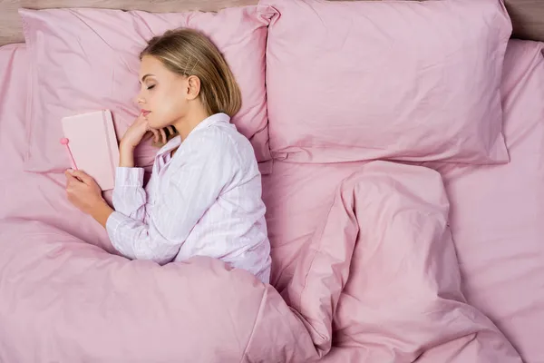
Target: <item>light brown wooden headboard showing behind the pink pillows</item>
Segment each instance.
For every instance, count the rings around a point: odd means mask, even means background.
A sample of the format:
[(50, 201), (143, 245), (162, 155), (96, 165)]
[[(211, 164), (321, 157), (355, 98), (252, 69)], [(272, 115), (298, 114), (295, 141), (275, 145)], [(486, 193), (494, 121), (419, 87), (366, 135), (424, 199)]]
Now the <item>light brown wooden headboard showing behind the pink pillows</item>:
[[(296, 1), (296, 0), (293, 0)], [(513, 37), (544, 42), (544, 0), (505, 0), (514, 25)], [(154, 13), (190, 10), (218, 11), (229, 6), (257, 4), (258, 0), (0, 0), (0, 45), (24, 42), (19, 7), (102, 7)]]

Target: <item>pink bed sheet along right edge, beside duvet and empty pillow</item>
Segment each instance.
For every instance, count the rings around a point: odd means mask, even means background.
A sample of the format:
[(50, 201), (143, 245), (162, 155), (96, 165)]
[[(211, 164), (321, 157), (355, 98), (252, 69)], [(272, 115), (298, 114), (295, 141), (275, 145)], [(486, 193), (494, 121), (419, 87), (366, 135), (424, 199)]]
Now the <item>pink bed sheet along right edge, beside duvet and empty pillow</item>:
[(512, 40), (501, 86), (506, 165), (442, 173), (464, 291), (518, 349), (544, 362), (544, 43)]

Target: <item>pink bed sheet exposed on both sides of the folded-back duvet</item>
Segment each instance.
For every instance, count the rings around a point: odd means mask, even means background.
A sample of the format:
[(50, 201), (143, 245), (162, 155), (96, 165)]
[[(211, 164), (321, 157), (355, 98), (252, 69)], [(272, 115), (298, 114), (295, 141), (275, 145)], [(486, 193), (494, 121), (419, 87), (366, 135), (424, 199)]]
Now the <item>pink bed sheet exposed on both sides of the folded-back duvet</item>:
[[(497, 166), (424, 163), (442, 174), (468, 301), (509, 338), (524, 361), (544, 362), (543, 44), (511, 40), (502, 82), (511, 162)], [(264, 179), (273, 246), (272, 280), (287, 289), (335, 195), (364, 162), (275, 162)]]

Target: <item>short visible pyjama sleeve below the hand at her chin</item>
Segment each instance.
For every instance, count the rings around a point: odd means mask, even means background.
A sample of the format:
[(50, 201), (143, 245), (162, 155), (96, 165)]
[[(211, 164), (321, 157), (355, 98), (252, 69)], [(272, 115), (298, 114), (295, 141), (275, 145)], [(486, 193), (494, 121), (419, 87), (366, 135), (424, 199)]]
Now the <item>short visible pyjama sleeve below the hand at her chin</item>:
[(131, 219), (143, 221), (147, 195), (143, 189), (143, 168), (118, 167), (112, 203), (115, 211)]

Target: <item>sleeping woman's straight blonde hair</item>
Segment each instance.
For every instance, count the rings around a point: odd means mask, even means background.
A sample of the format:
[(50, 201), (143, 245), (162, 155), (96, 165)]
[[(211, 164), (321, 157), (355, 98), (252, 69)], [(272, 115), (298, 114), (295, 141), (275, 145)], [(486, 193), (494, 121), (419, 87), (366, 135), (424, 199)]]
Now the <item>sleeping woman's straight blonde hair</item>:
[(238, 113), (242, 105), (238, 83), (219, 49), (204, 34), (187, 28), (169, 30), (151, 38), (140, 60), (144, 55), (156, 57), (171, 72), (199, 77), (199, 97), (210, 115)]

